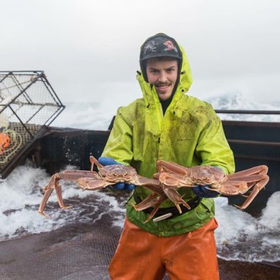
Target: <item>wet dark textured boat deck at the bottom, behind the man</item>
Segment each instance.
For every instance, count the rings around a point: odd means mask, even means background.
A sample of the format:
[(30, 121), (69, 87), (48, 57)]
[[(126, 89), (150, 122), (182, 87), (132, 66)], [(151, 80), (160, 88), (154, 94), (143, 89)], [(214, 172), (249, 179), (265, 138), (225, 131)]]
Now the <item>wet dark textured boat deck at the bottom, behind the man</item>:
[[(106, 214), (94, 225), (66, 225), (52, 232), (0, 242), (0, 279), (109, 279), (107, 267), (120, 236), (120, 228), (111, 228), (112, 219)], [(219, 259), (221, 280), (277, 280), (279, 264)], [(164, 279), (169, 278), (165, 275)]]

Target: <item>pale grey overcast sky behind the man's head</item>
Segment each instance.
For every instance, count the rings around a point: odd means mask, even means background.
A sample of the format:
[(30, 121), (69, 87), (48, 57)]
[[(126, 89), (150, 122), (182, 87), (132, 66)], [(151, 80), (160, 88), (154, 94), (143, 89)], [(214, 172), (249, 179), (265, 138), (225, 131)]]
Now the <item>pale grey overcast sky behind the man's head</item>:
[(280, 101), (279, 0), (0, 0), (1, 70), (43, 70), (62, 103), (141, 97), (139, 48), (158, 32), (186, 50), (190, 94)]

